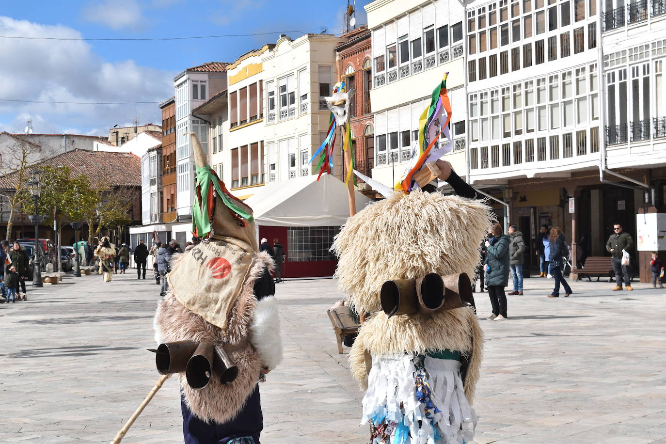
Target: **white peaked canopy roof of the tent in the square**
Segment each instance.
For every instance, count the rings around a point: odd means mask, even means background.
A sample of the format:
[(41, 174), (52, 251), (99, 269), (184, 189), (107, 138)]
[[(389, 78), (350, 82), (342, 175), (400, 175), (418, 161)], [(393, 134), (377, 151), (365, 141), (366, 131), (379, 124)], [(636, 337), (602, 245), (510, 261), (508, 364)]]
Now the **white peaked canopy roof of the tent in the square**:
[[(354, 190), (356, 211), (370, 199)], [(254, 222), (264, 226), (339, 226), (349, 217), (347, 187), (330, 174), (304, 176), (262, 186), (246, 199)]]

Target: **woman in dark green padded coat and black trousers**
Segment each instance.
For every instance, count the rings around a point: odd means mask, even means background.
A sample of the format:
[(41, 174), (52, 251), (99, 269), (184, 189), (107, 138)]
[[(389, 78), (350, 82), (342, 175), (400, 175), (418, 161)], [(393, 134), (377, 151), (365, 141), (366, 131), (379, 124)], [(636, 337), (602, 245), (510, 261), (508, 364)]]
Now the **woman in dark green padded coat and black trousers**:
[(504, 230), (498, 222), (492, 225), (488, 234), (490, 238), (485, 244), (484, 270), (493, 314), (486, 319), (503, 321), (508, 318), (504, 287), (509, 283), (509, 236), (504, 235)]

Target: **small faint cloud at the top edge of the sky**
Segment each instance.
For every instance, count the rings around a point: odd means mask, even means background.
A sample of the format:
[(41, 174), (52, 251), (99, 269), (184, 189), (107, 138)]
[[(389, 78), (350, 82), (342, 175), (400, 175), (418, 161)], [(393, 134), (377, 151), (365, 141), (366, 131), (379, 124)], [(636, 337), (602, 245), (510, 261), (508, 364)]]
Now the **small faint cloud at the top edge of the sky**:
[(81, 18), (111, 29), (138, 30), (145, 27), (147, 19), (136, 0), (104, 0), (91, 2), (83, 7)]

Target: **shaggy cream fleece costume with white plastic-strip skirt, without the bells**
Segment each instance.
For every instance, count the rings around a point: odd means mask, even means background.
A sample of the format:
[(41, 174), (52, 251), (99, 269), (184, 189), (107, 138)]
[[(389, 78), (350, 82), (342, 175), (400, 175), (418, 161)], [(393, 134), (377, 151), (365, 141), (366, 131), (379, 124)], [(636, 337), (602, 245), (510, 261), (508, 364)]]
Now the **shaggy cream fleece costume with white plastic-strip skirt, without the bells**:
[(387, 280), (428, 273), (474, 278), (478, 246), (491, 222), (490, 208), (480, 200), (416, 189), (367, 206), (336, 236), (338, 286), (358, 313), (371, 314), (349, 361), (367, 389), (363, 422), (370, 422), (372, 443), (473, 440), (471, 404), (483, 354), (474, 311), (388, 318), (379, 293)]

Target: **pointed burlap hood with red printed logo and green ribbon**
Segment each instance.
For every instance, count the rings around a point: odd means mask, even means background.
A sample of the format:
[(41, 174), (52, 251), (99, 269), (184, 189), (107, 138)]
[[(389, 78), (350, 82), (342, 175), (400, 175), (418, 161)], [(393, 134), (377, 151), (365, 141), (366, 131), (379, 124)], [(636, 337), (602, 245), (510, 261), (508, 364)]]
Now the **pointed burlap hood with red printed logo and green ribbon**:
[[(192, 232), (204, 241), (178, 261), (167, 280), (181, 304), (224, 329), (250, 272), (252, 255), (258, 250), (252, 208), (226, 190), (208, 165), (198, 138), (192, 133), (190, 138), (197, 170), (193, 206), (198, 208), (193, 208), (193, 214), (204, 209), (205, 216), (203, 221), (194, 218)], [(202, 183), (204, 177), (212, 183)]]

